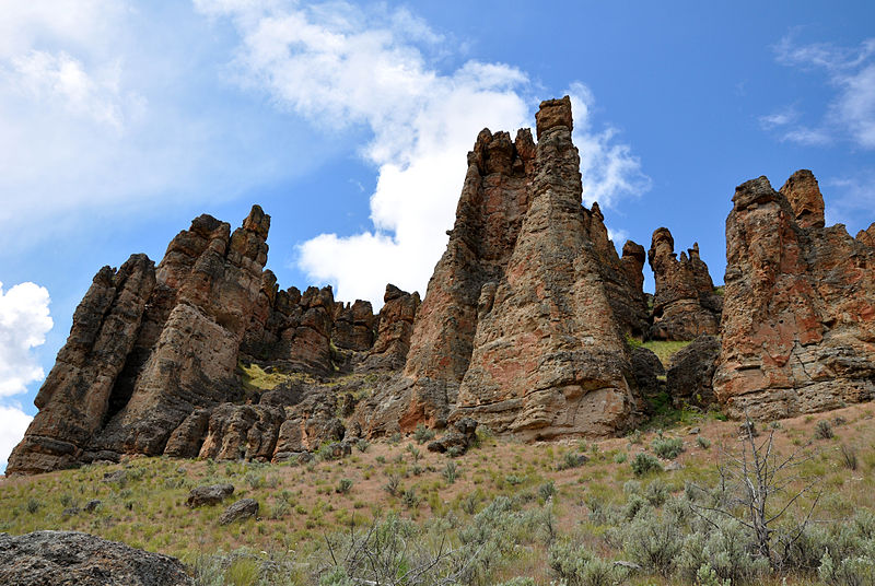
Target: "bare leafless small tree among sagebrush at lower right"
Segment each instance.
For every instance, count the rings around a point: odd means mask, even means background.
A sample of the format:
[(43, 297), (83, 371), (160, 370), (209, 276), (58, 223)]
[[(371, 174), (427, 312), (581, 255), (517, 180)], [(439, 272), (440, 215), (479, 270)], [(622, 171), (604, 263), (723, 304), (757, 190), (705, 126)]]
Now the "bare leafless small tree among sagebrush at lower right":
[[(815, 453), (809, 449), (809, 442), (782, 458), (774, 452), (774, 429), (759, 444), (754, 429), (749, 419), (742, 426), (740, 454), (722, 449), (718, 469), (723, 497), (713, 506), (697, 504), (693, 509), (714, 527), (716, 524), (703, 513), (736, 519), (750, 531), (756, 553), (773, 569), (781, 570), (820, 499), (817, 481), (800, 472), (800, 467), (814, 458)], [(809, 492), (814, 499), (802, 518), (782, 523), (786, 513), (802, 505), (801, 499)]]

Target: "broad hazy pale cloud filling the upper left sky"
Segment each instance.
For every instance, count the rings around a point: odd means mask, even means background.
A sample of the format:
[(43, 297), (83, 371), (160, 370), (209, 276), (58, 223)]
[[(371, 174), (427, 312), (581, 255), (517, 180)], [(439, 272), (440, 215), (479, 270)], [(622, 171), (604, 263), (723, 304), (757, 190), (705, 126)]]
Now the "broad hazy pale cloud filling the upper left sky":
[(229, 39), (190, 3), (0, 0), (0, 14), (8, 254), (97, 218), (229, 200), (329, 150), (300, 118), (241, 99), (222, 74)]

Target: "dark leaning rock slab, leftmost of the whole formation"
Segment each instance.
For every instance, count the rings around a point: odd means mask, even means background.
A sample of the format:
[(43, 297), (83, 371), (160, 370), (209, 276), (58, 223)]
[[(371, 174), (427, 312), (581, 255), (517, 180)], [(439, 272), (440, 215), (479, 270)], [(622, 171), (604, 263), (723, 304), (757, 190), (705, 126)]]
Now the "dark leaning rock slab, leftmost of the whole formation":
[(114, 383), (133, 348), (155, 269), (145, 255), (117, 271), (104, 267), (73, 314), (73, 326), (36, 396), (39, 412), (9, 457), (7, 473), (37, 473), (73, 466), (101, 429)]

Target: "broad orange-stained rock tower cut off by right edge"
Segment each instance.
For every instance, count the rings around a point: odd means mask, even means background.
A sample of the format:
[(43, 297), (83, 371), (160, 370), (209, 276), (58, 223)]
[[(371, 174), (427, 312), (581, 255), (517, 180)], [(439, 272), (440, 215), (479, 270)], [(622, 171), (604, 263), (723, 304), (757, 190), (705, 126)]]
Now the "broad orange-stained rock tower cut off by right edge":
[(780, 191), (766, 177), (735, 190), (713, 379), (731, 415), (773, 419), (875, 392), (875, 230), (852, 238), (824, 226), (809, 171)]

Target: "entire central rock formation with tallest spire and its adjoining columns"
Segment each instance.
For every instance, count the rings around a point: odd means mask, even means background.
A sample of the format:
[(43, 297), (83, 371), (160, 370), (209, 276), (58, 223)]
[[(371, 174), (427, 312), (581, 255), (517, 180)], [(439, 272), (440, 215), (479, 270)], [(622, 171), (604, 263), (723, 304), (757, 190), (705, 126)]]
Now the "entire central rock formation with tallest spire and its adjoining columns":
[(541, 104), (537, 144), (529, 130), (478, 136), (404, 376), (374, 401), (372, 431), (470, 415), (537, 438), (633, 422), (623, 332), (646, 323), (643, 259), (630, 243), (620, 260), (597, 204), (582, 206), (571, 130), (565, 97)]

